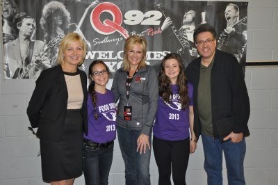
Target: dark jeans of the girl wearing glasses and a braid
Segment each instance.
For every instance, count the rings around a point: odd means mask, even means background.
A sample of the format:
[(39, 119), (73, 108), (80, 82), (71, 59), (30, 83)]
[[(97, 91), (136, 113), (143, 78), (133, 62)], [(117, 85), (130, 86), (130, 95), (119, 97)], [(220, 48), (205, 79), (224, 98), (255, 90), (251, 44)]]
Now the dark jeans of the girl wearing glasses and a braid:
[(108, 184), (113, 150), (114, 144), (109, 147), (92, 147), (83, 142), (83, 173), (86, 185)]

